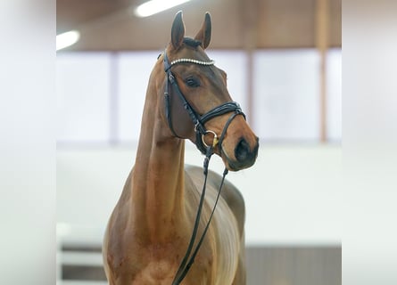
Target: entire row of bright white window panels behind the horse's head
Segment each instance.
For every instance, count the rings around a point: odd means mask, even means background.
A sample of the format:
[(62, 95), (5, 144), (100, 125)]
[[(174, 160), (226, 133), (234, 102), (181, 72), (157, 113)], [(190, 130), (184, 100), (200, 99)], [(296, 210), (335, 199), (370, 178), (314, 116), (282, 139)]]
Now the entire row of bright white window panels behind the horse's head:
[[(252, 110), (247, 54), (209, 51), (255, 132), (267, 142), (318, 142), (319, 55), (316, 49), (253, 53)], [(145, 91), (159, 52), (61, 53), (57, 57), (57, 142), (136, 142)], [(341, 50), (327, 53), (327, 135), (341, 141)]]

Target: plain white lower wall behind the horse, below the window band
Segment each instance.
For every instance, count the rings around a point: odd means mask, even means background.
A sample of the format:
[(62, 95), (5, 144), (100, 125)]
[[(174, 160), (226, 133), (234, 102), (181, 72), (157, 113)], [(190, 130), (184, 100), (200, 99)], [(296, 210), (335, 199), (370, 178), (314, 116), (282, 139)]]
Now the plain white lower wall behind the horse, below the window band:
[[(57, 154), (57, 221), (68, 240), (102, 240), (135, 149), (62, 149)], [(186, 163), (202, 166), (189, 142)], [(223, 165), (211, 159), (219, 174)], [(336, 146), (261, 146), (256, 164), (227, 179), (242, 191), (246, 243), (329, 244), (341, 240), (341, 150)]]

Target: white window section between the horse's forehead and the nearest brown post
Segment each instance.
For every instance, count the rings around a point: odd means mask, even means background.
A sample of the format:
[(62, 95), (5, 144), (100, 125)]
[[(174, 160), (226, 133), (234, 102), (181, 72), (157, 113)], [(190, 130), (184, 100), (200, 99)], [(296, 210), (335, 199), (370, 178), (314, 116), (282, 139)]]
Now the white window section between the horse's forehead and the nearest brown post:
[(227, 89), (232, 99), (248, 114), (247, 56), (243, 51), (208, 51), (215, 65), (227, 73)]

